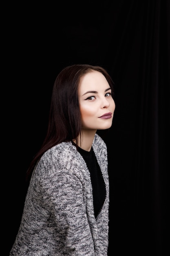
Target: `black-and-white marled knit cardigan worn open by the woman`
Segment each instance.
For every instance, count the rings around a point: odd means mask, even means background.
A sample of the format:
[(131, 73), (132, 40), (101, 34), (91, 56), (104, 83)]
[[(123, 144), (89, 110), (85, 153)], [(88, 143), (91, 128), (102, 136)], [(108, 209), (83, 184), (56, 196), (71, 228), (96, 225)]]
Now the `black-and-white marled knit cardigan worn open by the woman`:
[(107, 148), (97, 134), (93, 150), (106, 184), (97, 218), (86, 163), (71, 142), (62, 142), (47, 150), (33, 171), (10, 256), (107, 256)]

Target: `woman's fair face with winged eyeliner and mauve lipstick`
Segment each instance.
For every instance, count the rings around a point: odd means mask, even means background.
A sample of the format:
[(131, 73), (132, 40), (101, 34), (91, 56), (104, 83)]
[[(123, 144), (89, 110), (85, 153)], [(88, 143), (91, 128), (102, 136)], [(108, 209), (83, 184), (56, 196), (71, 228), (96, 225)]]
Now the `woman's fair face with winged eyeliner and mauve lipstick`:
[(105, 76), (92, 71), (82, 77), (79, 84), (79, 104), (82, 128), (104, 130), (110, 128), (115, 101)]

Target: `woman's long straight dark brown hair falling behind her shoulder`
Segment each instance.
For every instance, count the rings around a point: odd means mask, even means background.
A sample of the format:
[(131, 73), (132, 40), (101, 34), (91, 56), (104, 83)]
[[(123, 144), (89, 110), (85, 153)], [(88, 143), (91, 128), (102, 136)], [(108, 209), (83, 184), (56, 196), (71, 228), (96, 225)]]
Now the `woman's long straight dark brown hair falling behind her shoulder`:
[(113, 91), (113, 81), (108, 72), (100, 66), (75, 64), (65, 67), (57, 76), (51, 97), (49, 124), (44, 142), (33, 158), (27, 180), (40, 157), (49, 148), (63, 142), (77, 139), (81, 135), (82, 124), (79, 110), (79, 82), (82, 76), (93, 70), (101, 72)]

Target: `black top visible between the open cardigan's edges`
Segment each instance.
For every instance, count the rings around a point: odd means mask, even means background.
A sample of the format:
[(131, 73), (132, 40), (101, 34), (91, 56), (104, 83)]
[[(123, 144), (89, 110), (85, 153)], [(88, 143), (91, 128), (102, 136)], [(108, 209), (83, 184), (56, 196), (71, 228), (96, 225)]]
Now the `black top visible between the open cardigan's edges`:
[[(73, 145), (76, 146), (74, 142)], [(87, 168), (91, 175), (91, 183), (93, 188), (93, 206), (95, 218), (97, 217), (100, 209), (102, 208), (106, 196), (106, 187), (103, 179), (102, 172), (100, 170), (99, 164), (97, 162), (93, 147), (90, 151), (86, 151), (80, 147), (77, 147), (78, 152), (84, 158), (87, 164)]]

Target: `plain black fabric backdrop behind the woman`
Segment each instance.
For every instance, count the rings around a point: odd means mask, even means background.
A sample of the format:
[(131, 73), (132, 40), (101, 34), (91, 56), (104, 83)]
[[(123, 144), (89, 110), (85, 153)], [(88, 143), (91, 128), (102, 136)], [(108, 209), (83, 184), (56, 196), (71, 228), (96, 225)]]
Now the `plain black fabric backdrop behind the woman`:
[(26, 170), (46, 133), (53, 83), (75, 63), (101, 65), (115, 83), (113, 126), (98, 132), (108, 146), (108, 255), (168, 255), (170, 1), (15, 2), (7, 9), (7, 255), (20, 225)]

